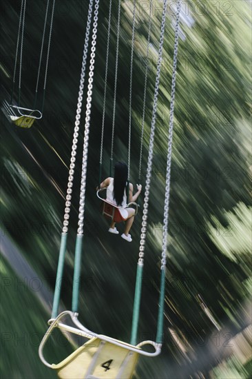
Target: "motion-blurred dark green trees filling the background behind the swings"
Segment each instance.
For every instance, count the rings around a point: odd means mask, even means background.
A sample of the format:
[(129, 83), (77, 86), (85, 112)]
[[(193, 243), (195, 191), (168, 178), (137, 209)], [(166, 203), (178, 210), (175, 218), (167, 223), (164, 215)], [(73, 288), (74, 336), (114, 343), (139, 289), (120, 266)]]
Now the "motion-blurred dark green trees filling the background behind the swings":
[[(10, 99), (20, 6), (21, 1), (1, 1), (1, 101)], [(45, 6), (46, 1), (28, 0), (21, 94), (24, 107), (32, 107), (34, 101)], [(12, 244), (19, 248), (48, 293), (54, 287), (56, 276), (87, 8), (88, 1), (56, 1), (43, 119), (34, 123), (30, 130), (22, 130), (11, 125), (1, 113), (1, 237), (8, 238), (10, 249)], [(107, 233), (107, 221), (99, 214), (100, 205), (95, 194), (108, 8), (109, 1), (100, 1), (87, 165), (80, 319), (89, 329), (129, 341), (141, 210), (132, 228), (133, 242), (127, 245)], [(168, 1), (139, 341), (155, 340), (158, 314), (175, 8), (175, 3)], [(127, 161), (132, 10), (133, 1), (122, 0), (114, 161)], [(103, 178), (109, 175), (117, 11), (118, 3), (113, 1)], [(146, 59), (148, 14), (149, 1), (137, 1), (131, 151), (131, 181), (135, 187), (145, 64), (148, 64), (143, 187), (145, 184), (162, 1), (153, 1), (151, 48), (149, 59)], [(231, 375), (249, 378), (251, 355), (239, 365), (229, 360), (226, 371), (211, 369), (229, 355), (229, 339), (234, 341), (234, 336), (251, 323), (251, 305), (247, 303), (251, 292), (251, 2), (183, 2), (179, 43), (164, 349), (157, 358), (140, 358), (136, 378), (187, 378), (197, 371), (218, 378), (231, 378)], [(85, 93), (86, 87), (87, 80)], [(84, 125), (85, 96), (71, 237), (62, 291), (62, 305), (67, 309), (71, 305)], [(143, 194), (140, 205), (143, 205)], [(0, 361), (2, 376), (54, 378), (54, 373), (43, 367), (37, 356), (38, 336), (43, 336), (50, 315), (41, 303), (37, 303), (37, 291), (25, 282), (25, 276), (19, 274), (18, 261), (10, 265), (7, 260), (1, 255), (2, 289), (6, 295), (1, 301), (4, 316), (1, 343), (6, 352)], [(63, 345), (61, 354), (64, 353)], [(235, 350), (235, 343), (232, 345)], [(20, 355), (19, 351), (27, 354)], [(53, 351), (50, 351), (50, 361), (56, 361)]]

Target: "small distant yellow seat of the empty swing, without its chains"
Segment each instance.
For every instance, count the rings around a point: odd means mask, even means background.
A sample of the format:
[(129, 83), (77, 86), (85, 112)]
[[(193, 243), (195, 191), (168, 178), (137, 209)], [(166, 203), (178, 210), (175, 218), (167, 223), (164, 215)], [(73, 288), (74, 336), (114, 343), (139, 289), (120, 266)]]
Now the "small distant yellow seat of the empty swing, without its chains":
[(7, 101), (3, 101), (3, 108), (10, 121), (19, 127), (30, 128), (35, 120), (42, 118), (40, 110), (30, 110), (17, 105), (11, 105)]

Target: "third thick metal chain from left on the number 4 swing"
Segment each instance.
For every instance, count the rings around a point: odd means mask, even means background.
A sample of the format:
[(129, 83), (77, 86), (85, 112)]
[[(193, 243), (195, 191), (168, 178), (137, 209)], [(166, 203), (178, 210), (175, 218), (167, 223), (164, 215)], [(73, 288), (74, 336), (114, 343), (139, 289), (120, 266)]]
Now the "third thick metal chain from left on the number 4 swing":
[(138, 258), (138, 264), (143, 265), (144, 256), (145, 256), (145, 238), (147, 231), (147, 215), (148, 215), (148, 207), (149, 207), (149, 188), (151, 183), (151, 169), (152, 169), (152, 158), (153, 158), (153, 150), (154, 150), (154, 136), (155, 136), (155, 124), (156, 124), (156, 110), (158, 106), (158, 90), (159, 90), (159, 80), (160, 80), (160, 70), (162, 63), (162, 45), (164, 42), (164, 34), (165, 34), (165, 13), (167, 9), (167, 1), (165, 0), (162, 3), (162, 23), (161, 23), (161, 32), (160, 32), (160, 43), (158, 50), (158, 64), (157, 64), (157, 72), (156, 72), (156, 83), (155, 83), (155, 91), (154, 91), (154, 104), (152, 111), (152, 119), (151, 119), (151, 134), (149, 137), (149, 154), (147, 161), (147, 173), (146, 173), (146, 181), (145, 181), (145, 199), (143, 205), (143, 218), (142, 218), (142, 227), (141, 227), (141, 235), (140, 235), (140, 252)]

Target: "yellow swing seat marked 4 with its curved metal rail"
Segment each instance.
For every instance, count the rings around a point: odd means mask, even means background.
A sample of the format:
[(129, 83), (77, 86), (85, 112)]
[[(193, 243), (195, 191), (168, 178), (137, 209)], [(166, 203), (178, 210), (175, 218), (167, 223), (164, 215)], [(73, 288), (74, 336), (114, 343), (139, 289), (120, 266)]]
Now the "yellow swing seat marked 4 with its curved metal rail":
[[(59, 322), (67, 314), (71, 316), (78, 329)], [(39, 356), (46, 366), (57, 371), (61, 379), (130, 379), (134, 373), (139, 354), (145, 356), (157, 356), (160, 354), (161, 345), (153, 341), (144, 341), (134, 346), (111, 337), (95, 334), (83, 327), (76, 318), (76, 314), (70, 311), (63, 311), (57, 318), (49, 322), (52, 323), (39, 346)], [(61, 331), (70, 331), (90, 340), (78, 347), (61, 362), (50, 364), (43, 357), (43, 347), (55, 327), (58, 327)], [(154, 353), (141, 349), (143, 345), (147, 344), (154, 346)]]

